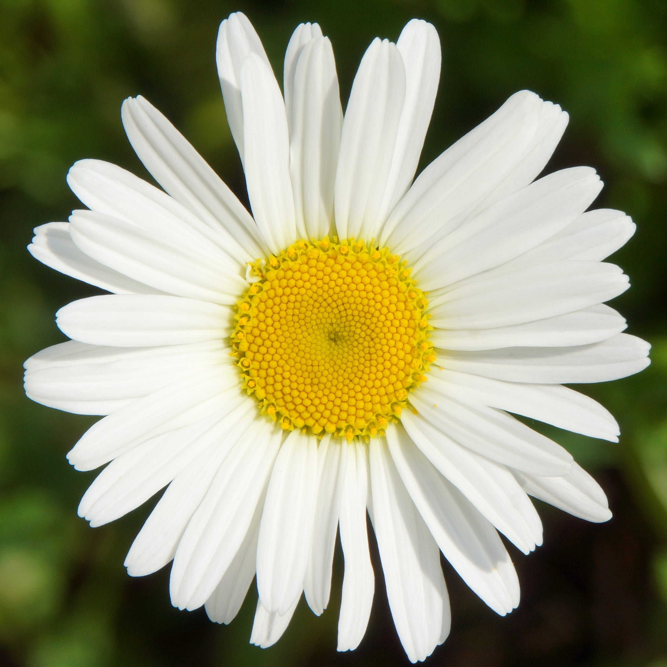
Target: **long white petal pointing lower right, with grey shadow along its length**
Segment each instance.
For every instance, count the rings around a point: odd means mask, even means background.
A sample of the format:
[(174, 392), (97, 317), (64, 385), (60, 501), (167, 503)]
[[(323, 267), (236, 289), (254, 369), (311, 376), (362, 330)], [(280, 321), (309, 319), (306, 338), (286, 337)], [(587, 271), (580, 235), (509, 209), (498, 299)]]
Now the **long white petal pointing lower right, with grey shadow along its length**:
[[(519, 603), (519, 582), (496, 530), (414, 445), (402, 448), (398, 446), (398, 438), (395, 441), (392, 468), (398, 468), (400, 479), (406, 484), (445, 558), (494, 612), (501, 616), (511, 612)], [(372, 474), (373, 457), (371, 444)], [(375, 498), (375, 478), (373, 483)]]

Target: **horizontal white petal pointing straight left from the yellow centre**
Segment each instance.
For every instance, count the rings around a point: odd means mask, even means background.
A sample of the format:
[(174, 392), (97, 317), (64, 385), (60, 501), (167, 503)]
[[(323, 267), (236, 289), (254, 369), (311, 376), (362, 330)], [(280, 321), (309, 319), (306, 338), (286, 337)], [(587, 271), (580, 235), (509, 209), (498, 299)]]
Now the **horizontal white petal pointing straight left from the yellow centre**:
[(131, 348), (227, 338), (233, 311), (178, 296), (110, 294), (72, 301), (57, 311), (56, 318), (69, 338)]

